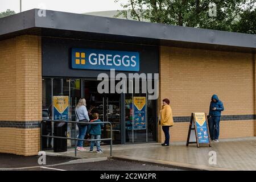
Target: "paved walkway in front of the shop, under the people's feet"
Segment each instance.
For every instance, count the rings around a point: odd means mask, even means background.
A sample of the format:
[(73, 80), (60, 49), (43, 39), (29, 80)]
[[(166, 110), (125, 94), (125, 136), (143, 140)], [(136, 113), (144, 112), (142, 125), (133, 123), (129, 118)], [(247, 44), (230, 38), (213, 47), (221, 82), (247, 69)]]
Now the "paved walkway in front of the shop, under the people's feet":
[[(89, 148), (86, 148), (89, 150)], [(77, 152), (79, 158), (97, 158), (110, 156), (110, 147), (102, 146), (104, 154)], [(217, 154), (217, 164), (209, 164), (209, 152)], [(74, 150), (49, 155), (74, 156)], [(197, 148), (195, 144), (188, 147), (184, 142), (172, 143), (162, 147), (159, 143), (127, 144), (113, 146), (113, 156), (123, 159), (141, 160), (143, 162), (166, 164), (207, 170), (256, 170), (256, 137), (225, 139), (212, 143), (212, 147)]]

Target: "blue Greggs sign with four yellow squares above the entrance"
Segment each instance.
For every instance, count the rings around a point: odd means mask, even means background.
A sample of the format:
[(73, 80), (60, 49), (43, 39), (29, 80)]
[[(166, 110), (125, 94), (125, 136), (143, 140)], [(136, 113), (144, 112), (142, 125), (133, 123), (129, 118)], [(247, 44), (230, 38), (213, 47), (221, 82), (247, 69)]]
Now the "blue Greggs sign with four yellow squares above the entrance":
[(73, 69), (139, 71), (139, 52), (72, 48)]

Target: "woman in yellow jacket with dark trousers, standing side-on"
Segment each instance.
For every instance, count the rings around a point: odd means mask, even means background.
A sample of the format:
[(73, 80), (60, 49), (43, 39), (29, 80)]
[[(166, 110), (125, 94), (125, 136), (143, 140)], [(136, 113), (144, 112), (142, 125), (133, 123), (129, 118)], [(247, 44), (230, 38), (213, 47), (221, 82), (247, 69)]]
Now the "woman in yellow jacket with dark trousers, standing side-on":
[(168, 98), (163, 100), (163, 106), (159, 113), (160, 125), (162, 126), (162, 130), (164, 132), (165, 140), (162, 143), (162, 146), (169, 146), (170, 143), (170, 134), (169, 128), (174, 125), (174, 119), (172, 118), (172, 109), (169, 105), (170, 101)]

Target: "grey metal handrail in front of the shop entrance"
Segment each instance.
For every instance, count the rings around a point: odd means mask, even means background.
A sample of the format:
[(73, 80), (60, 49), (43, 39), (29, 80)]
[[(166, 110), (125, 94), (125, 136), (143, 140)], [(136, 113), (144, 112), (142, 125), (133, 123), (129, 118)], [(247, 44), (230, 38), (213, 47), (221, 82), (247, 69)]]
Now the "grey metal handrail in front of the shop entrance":
[[(56, 136), (49, 136), (49, 135), (43, 135), (43, 127), (42, 127), (42, 123), (44, 121), (48, 121), (48, 122), (65, 122), (65, 123), (75, 123), (75, 138), (71, 138), (71, 137), (56, 137)], [(76, 126), (77, 124), (85, 124), (85, 125), (96, 125), (96, 124), (109, 124), (110, 125), (110, 138), (102, 138), (102, 139), (79, 139), (76, 138)], [(64, 120), (42, 120), (42, 122), (40, 123), (40, 127), (41, 127), (41, 150), (43, 150), (43, 137), (46, 138), (59, 138), (59, 139), (70, 139), (70, 140), (82, 140), (82, 141), (101, 141), (101, 140), (110, 140), (110, 156), (112, 156), (112, 145), (113, 145), (113, 134), (112, 134), (112, 123), (108, 122), (108, 121), (104, 121), (104, 122), (80, 122), (80, 121), (64, 121)], [(75, 156), (77, 156), (77, 142), (75, 142)]]

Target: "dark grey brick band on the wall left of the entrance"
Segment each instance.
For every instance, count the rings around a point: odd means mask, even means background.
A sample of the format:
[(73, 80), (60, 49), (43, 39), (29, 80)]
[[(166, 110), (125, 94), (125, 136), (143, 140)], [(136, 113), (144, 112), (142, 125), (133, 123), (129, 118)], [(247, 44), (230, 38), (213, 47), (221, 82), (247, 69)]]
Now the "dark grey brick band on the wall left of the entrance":
[(19, 129), (35, 129), (40, 127), (40, 121), (0, 121), (0, 127), (15, 127)]

